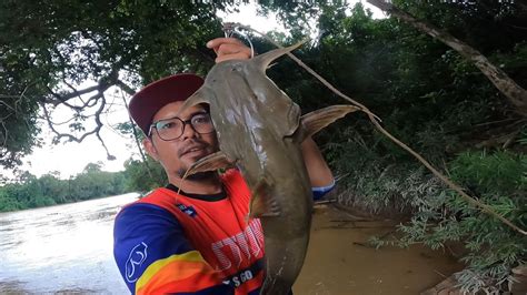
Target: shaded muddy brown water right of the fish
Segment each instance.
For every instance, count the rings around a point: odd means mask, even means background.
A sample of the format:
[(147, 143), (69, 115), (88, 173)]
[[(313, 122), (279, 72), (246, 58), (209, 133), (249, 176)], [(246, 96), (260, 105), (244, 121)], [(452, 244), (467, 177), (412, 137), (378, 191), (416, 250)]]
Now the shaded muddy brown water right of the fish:
[(463, 268), (449, 254), (424, 246), (370, 247), (370, 236), (394, 232), (396, 223), (351, 220), (331, 206), (316, 208), (295, 294), (419, 294)]

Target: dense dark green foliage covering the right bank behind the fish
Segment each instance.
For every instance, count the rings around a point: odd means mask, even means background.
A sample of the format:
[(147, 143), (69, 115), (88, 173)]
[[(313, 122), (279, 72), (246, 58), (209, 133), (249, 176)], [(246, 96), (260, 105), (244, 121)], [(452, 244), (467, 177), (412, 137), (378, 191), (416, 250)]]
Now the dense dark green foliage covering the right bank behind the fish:
[[(499, 3), (480, 4), (500, 9)], [(525, 28), (521, 10), (513, 7), (496, 20), (488, 16), (470, 20), (473, 7), (429, 2), (408, 7), (477, 45), (517, 83), (527, 85), (525, 31), (514, 28)], [(325, 33), (319, 45), (297, 55), (364, 102), (390, 133), (448, 172), (471, 195), (526, 228), (525, 119), (514, 114), (473, 64), (443, 43), (398, 20), (374, 20), (360, 4), (351, 12), (320, 12), (318, 24)], [(499, 33), (489, 37), (487, 29)], [(338, 102), (310, 77), (291, 70), (292, 63), (282, 64), (274, 67), (270, 75), (305, 109)], [(400, 241), (377, 241), (379, 245), (424, 243), (438, 248), (453, 241), (463, 243), (464, 289), (506, 291), (503, 283), (510, 268), (527, 257), (523, 236), (445, 189), (361, 114), (328, 128), (318, 142), (342, 176), (340, 202), (374, 213), (409, 214), (409, 224), (399, 228)], [(503, 146), (509, 150), (501, 151)]]

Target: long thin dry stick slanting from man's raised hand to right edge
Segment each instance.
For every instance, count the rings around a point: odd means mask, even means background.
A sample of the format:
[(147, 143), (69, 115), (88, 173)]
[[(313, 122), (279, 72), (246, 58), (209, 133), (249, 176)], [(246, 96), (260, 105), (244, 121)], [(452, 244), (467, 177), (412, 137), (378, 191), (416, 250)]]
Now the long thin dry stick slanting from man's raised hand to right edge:
[[(264, 37), (266, 40), (268, 40), (269, 42), (271, 42), (272, 44), (275, 44), (276, 47), (278, 48), (284, 48), (282, 45), (278, 44), (277, 42), (275, 42), (275, 40), (272, 40), (271, 38), (269, 38), (267, 34), (265, 33), (261, 33), (250, 27), (246, 27), (246, 26), (242, 26), (242, 24), (239, 24), (240, 28), (242, 29), (246, 29), (246, 30), (250, 30), (250, 31), (253, 31), (258, 34), (260, 34), (261, 37)], [(459, 185), (455, 184), (454, 182), (451, 182), (447, 176), (443, 175), (439, 171), (437, 171), (430, 163), (428, 163), (422, 156), (420, 156), (417, 152), (415, 152), (414, 150), (411, 150), (408, 145), (406, 145), (405, 143), (400, 142), (398, 139), (396, 139), (394, 135), (391, 135), (388, 131), (386, 131), (377, 120), (380, 121), (380, 119), (374, 114), (370, 110), (368, 110), (368, 108), (366, 108), (365, 105), (360, 104), (359, 102), (352, 100), (351, 98), (347, 96), (346, 94), (344, 94), (342, 92), (340, 92), (338, 89), (336, 89), (334, 85), (331, 85), (328, 81), (326, 81), (326, 79), (324, 79), (322, 77), (320, 77), (317, 72), (315, 72), (311, 68), (309, 68), (306, 63), (304, 63), (300, 59), (298, 59), (297, 57), (295, 57), (292, 53), (288, 52), (287, 53), (294, 61), (296, 61), (298, 63), (298, 65), (300, 65), (301, 68), (304, 68), (306, 71), (308, 71), (310, 74), (312, 74), (315, 78), (317, 78), (324, 85), (326, 85), (328, 89), (330, 89), (332, 92), (335, 92), (337, 95), (339, 95), (340, 98), (351, 102), (352, 104), (355, 104), (356, 106), (358, 106), (362, 112), (365, 112), (366, 114), (368, 114), (368, 118), (369, 120), (371, 121), (371, 123), (374, 123), (374, 125), (382, 133), (385, 134), (388, 139), (390, 139), (392, 142), (395, 142), (397, 145), (399, 145), (400, 148), (402, 148), (404, 150), (406, 150), (407, 152), (409, 152), (411, 155), (414, 155), (419, 162), (421, 162), (428, 170), (431, 171), (431, 173), (434, 173), (434, 175), (436, 175), (437, 177), (439, 177), (444, 183), (446, 183), (448, 186), (450, 186), (450, 189), (453, 189), (454, 191), (456, 191), (457, 193), (459, 193), (468, 203), (473, 204), (474, 206), (476, 207), (480, 207), (483, 212), (498, 218), (499, 221), (501, 221), (503, 223), (505, 223), (507, 226), (509, 226), (510, 228), (519, 232), (520, 234), (523, 235), (527, 235), (527, 232), (521, 230), (520, 227), (516, 226), (513, 222), (510, 222), (509, 220), (505, 218), (504, 216), (499, 215), (497, 212), (495, 212), (490, 206), (477, 201), (476, 199), (469, 196), (468, 194), (466, 194), (461, 187), (459, 187)]]

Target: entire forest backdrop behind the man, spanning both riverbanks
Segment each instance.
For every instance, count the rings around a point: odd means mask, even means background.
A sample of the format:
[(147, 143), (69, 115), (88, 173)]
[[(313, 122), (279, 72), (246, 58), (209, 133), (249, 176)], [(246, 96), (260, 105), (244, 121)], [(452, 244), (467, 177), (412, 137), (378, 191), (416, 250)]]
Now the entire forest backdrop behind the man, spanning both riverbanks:
[[(408, 1), (399, 9), (478, 50), (520, 88), (527, 87), (527, 4), (523, 1)], [(527, 227), (527, 120), (474, 62), (441, 41), (396, 18), (374, 19), (346, 1), (259, 1), (276, 12), (291, 44), (318, 37), (295, 52), (337, 89), (367, 105), (382, 125), (422, 154), (465, 192), (521, 228)], [(202, 44), (222, 35), (216, 12), (236, 10), (221, 1), (6, 0), (0, 3), (0, 165), (17, 170), (39, 145), (39, 120), (54, 141), (100, 138), (108, 91), (127, 99), (177, 72), (205, 75), (213, 52)], [(250, 33), (257, 52), (274, 47)], [(344, 103), (290, 59), (268, 75), (304, 112)], [(83, 81), (97, 81), (79, 88)], [(82, 95), (82, 98), (81, 98)], [(83, 99), (88, 98), (88, 99)], [(127, 100), (125, 99), (125, 100)], [(527, 101), (527, 98), (525, 98)], [(51, 113), (68, 108), (67, 130)], [(62, 124), (64, 125), (64, 124)], [(53, 128), (54, 126), (54, 128)], [(118, 126), (139, 138), (130, 122)], [(317, 135), (339, 179), (340, 204), (371, 214), (404, 216), (396, 234), (374, 237), (378, 246), (422, 243), (457, 253), (466, 268), (465, 291), (506, 291), (510, 269), (525, 264), (527, 241), (466, 203), (412, 156), (354, 114)], [(105, 146), (105, 149), (107, 149)], [(108, 149), (107, 149), (108, 150)], [(111, 146), (108, 150), (109, 160)], [(87, 200), (163, 185), (151, 159), (130, 159), (125, 171), (89, 164), (76, 177), (18, 172), (0, 187), (0, 210)]]

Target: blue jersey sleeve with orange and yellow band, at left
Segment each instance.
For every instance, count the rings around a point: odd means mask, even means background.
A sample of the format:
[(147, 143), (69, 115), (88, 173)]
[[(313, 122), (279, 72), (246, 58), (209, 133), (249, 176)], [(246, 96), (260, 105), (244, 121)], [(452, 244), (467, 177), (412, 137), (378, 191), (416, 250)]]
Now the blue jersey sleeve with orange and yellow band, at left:
[(232, 294), (177, 218), (153, 204), (135, 203), (117, 215), (113, 256), (132, 294)]

